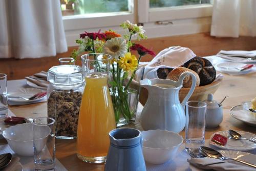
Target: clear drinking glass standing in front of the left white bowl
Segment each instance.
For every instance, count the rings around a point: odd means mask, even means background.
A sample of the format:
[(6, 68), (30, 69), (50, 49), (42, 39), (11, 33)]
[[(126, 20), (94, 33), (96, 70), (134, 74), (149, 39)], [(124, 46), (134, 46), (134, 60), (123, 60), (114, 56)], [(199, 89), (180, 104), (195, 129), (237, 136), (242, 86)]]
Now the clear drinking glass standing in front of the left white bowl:
[(35, 170), (55, 170), (55, 120), (51, 117), (33, 119)]

